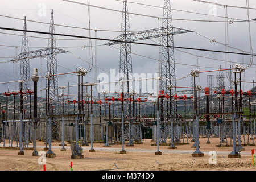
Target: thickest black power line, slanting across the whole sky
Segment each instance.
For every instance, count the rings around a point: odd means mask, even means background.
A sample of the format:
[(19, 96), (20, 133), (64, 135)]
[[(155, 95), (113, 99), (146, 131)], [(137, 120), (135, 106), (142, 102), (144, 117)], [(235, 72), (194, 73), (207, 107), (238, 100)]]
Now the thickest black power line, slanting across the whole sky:
[[(63, 0), (64, 1), (64, 0)], [(127, 40), (114, 40), (114, 39), (105, 39), (105, 38), (89, 38), (88, 36), (79, 36), (79, 35), (68, 35), (68, 34), (53, 34), (49, 32), (42, 32), (42, 31), (32, 31), (32, 30), (22, 30), (22, 29), (16, 29), (16, 28), (6, 28), (6, 27), (0, 27), (1, 30), (10, 30), (10, 31), (20, 31), (20, 32), (30, 32), (35, 34), (47, 34), (47, 35), (57, 35), (57, 36), (67, 36), (67, 37), (73, 37), (73, 38), (83, 38), (83, 39), (94, 39), (94, 40), (105, 40), (108, 42), (119, 42), (119, 43), (132, 43), (132, 44), (139, 44), (139, 45), (146, 45), (146, 46), (161, 46), (161, 47), (170, 47), (170, 48), (179, 48), (179, 49), (191, 49), (194, 51), (207, 51), (207, 52), (218, 52), (218, 53), (230, 53), (235, 55), (247, 55), (247, 56), (256, 56), (253, 53), (240, 53), (240, 52), (227, 52), (227, 51), (216, 51), (216, 50), (210, 50), (210, 49), (200, 49), (200, 48), (191, 48), (191, 47), (179, 47), (179, 46), (164, 46), (159, 44), (150, 44), (150, 43), (139, 43), (139, 42), (129, 42)]]

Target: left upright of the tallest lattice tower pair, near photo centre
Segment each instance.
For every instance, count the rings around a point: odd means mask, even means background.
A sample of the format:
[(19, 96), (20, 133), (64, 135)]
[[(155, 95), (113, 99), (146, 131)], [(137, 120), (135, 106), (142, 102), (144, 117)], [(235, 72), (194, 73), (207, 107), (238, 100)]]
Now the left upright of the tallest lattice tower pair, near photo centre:
[[(127, 40), (131, 38), (131, 35), (128, 35), (127, 32), (130, 32), (130, 22), (128, 14), (127, 1), (123, 1), (123, 14), (122, 14), (122, 26), (121, 26), (121, 39)], [(131, 62), (131, 43), (121, 43), (120, 44), (120, 63), (119, 63), (119, 73), (123, 74), (123, 80), (129, 80), (129, 75), (133, 73), (133, 67)], [(123, 84), (123, 92), (131, 92), (133, 85), (131, 82), (125, 82)]]

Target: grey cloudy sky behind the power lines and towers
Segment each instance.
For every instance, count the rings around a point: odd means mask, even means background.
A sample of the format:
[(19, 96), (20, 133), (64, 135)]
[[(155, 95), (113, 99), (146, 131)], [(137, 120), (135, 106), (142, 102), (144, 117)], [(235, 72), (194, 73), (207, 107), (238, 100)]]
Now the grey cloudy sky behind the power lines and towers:
[[(74, 0), (77, 2), (87, 3), (85, 0)], [(210, 0), (209, 0), (210, 1)], [(130, 2), (138, 2), (138, 3), (146, 3), (148, 5), (155, 6), (163, 6), (163, 0), (139, 0), (134, 1), (130, 0)], [(234, 6), (246, 6), (246, 0), (230, 0), (230, 1), (221, 1), (214, 0), (210, 2), (222, 3), (226, 5), (234, 5)], [(250, 7), (256, 7), (256, 2), (249, 1)], [(46, 16), (39, 16), (40, 4), (46, 5)], [(91, 5), (97, 5), (102, 7), (108, 7), (110, 9), (122, 10), (122, 2), (115, 0), (90, 0)], [(152, 16), (162, 16), (163, 9), (158, 7), (148, 7), (142, 5), (135, 5), (132, 3), (128, 4), (129, 11), (132, 13), (140, 13), (147, 14)], [(171, 0), (171, 6), (173, 9), (180, 9), (186, 11), (195, 11), (197, 13), (208, 14), (210, 11), (210, 7), (208, 4), (195, 2), (192, 0)], [(6, 16), (14, 16), (16, 18), (24, 18), (27, 16), (28, 20), (37, 20), (40, 22), (49, 22), (51, 16), (51, 9), (54, 11), (55, 16), (55, 24), (64, 24), (68, 26), (76, 26), (76, 27), (89, 27), (88, 23), (88, 7), (77, 5), (70, 2), (64, 2), (61, 0), (2, 0), (0, 1), (0, 15)], [(217, 15), (224, 16), (224, 7), (217, 6)], [(228, 16), (237, 19), (247, 19), (247, 11), (246, 9), (234, 9), (228, 8)], [(97, 9), (94, 7), (90, 8), (90, 22), (91, 28), (100, 29), (100, 30), (120, 30), (121, 29), (121, 18), (122, 14), (109, 10)], [(130, 28), (131, 31), (141, 31), (147, 30), (151, 28), (158, 28), (158, 19), (156, 18), (147, 18), (138, 15), (129, 15), (130, 18)], [(199, 14), (191, 14), (184, 13), (180, 11), (172, 11), (172, 18), (177, 19), (201, 19), (201, 20), (224, 20), (224, 18), (217, 18), (208, 15), (199, 15)], [(256, 18), (256, 10), (250, 10), (250, 19)], [(0, 17), (1, 27), (11, 27), (11, 28), (23, 28), (22, 20), (15, 20), (9, 18)], [(174, 27), (184, 28), (187, 30), (192, 30), (195, 32), (199, 32), (209, 38), (216, 39), (218, 42), (225, 43), (225, 24), (224, 23), (212, 23), (212, 22), (191, 22), (191, 21), (181, 21), (174, 20)], [(251, 38), (253, 42), (253, 51), (255, 51), (255, 30), (256, 30), (256, 22), (251, 22)], [(28, 30), (38, 30), (38, 31), (49, 31), (49, 26), (46, 24), (40, 23), (32, 23), (27, 22)], [(78, 30), (75, 28), (65, 28), (65, 27), (55, 27), (56, 33), (61, 34), (72, 34), (72, 35), (82, 35), (88, 36), (89, 31), (86, 30)], [(10, 32), (3, 31), (0, 32), (8, 32), (11, 34), (19, 34), (22, 35), (21, 32)], [(117, 37), (119, 32), (102, 32), (98, 31), (97, 36), (99, 38), (108, 38), (113, 39)], [(42, 36), (46, 38), (46, 35), (38, 35), (38, 34), (30, 34), (29, 36)], [(94, 31), (92, 31), (92, 36), (94, 36)], [(56, 38), (63, 38), (57, 36)], [(36, 39), (36, 38), (28, 38), (29, 46), (39, 46), (46, 47), (47, 39)], [(154, 39), (158, 41), (158, 39)], [(143, 41), (146, 43), (154, 43), (152, 40)], [(21, 46), (22, 36), (14, 36), (14, 35), (5, 35), (0, 33), (0, 44), (1, 45), (9, 45), (9, 46)], [(106, 42), (98, 41), (97, 45), (104, 44)], [(93, 41), (93, 44), (95, 42)], [(176, 35), (174, 37), (175, 46), (183, 46), (183, 47), (193, 47), (193, 48), (204, 48), (204, 49), (216, 49), (220, 51), (225, 51), (225, 47), (221, 46), (217, 43), (211, 43), (208, 39), (203, 38), (195, 33), (188, 33), (182, 35)], [(89, 46), (88, 41), (71, 41), (71, 40), (57, 40), (57, 47), (72, 47), (72, 46)], [(249, 26), (247, 22), (240, 23), (232, 23), (229, 24), (229, 45), (242, 49), (244, 51), (250, 51), (249, 44)], [(115, 47), (119, 47), (118, 45)], [(35, 50), (39, 48), (30, 48), (30, 50)], [(63, 48), (67, 49), (75, 53), (76, 55), (82, 57), (82, 59), (89, 60), (89, 48)], [(236, 52), (234, 49), (229, 49), (230, 51)], [(142, 45), (132, 45), (132, 52), (138, 53), (139, 55), (144, 55), (148, 57), (152, 57), (154, 59), (159, 58), (159, 48), (153, 46), (142, 46)], [(222, 53), (210, 53), (210, 52), (200, 52), (200, 51), (189, 51), (187, 52), (194, 53), (196, 55), (213, 57), (216, 59), (224, 59), (225, 55)], [(18, 48), (18, 53), (20, 53), (20, 48)], [(16, 54), (14, 47), (3, 47), (0, 46), (0, 57), (14, 57)], [(94, 54), (94, 52), (93, 52)], [(229, 59), (237, 62), (242, 62), (241, 55), (229, 55)], [(245, 63), (249, 63), (249, 56), (245, 56)], [(8, 61), (10, 59), (1, 58), (0, 61)], [(65, 55), (57, 56), (58, 64), (58, 72), (69, 72), (75, 71), (77, 66), (87, 68), (88, 63), (77, 59), (70, 53)], [(98, 67), (103, 68), (107, 71), (110, 71), (111, 68), (115, 68), (116, 72), (119, 71), (119, 50), (109, 46), (98, 46), (97, 47), (97, 64)], [(191, 68), (196, 68), (197, 65), (197, 57), (188, 55), (183, 52), (175, 51), (175, 61), (176, 63), (181, 64), (191, 64), (195, 65), (195, 67), (176, 64), (176, 77), (182, 77), (191, 72)], [(32, 59), (30, 60), (31, 65), (31, 74), (32, 68), (38, 68), (41, 76), (46, 74), (46, 63), (47, 59)], [(15, 67), (13, 63), (4, 63), (0, 64), (0, 82), (2, 81), (13, 81), (15, 78)], [(222, 61), (209, 60), (200, 58), (200, 66), (203, 67), (211, 67), (211, 68), (200, 68), (200, 71), (207, 71), (209, 69), (218, 68), (221, 65), (222, 68), (226, 67), (226, 64)], [(13, 68), (14, 67), (14, 68)], [(16, 66), (18, 69), (18, 77), (19, 77), (19, 64)], [(97, 70), (98, 73), (102, 71), (100, 69)], [(133, 72), (134, 73), (157, 73), (158, 72), (158, 63), (156, 60), (147, 59), (144, 57), (140, 57), (137, 55), (133, 55)], [(213, 73), (216, 75), (216, 73)], [(207, 86), (207, 74), (201, 75), (201, 86)], [(93, 81), (94, 72), (88, 74), (88, 77), (85, 81)], [(19, 79), (19, 78), (18, 78)], [(252, 65), (250, 69), (246, 70), (245, 80), (252, 81), (255, 79), (255, 66)], [(71, 85), (77, 83), (77, 77), (75, 75), (68, 76), (60, 76), (59, 77), (59, 86), (67, 85), (67, 82), (70, 82)], [(183, 81), (177, 81), (177, 86), (189, 86), (190, 85), (190, 77), (186, 78)], [(226, 82), (227, 85), (227, 82)], [(45, 87), (45, 80), (40, 79), (39, 86)], [(246, 84), (245, 89), (248, 90), (252, 87), (252, 84)], [(7, 89), (14, 90), (15, 84), (9, 85), (0, 85), (0, 92), (4, 92)], [(242, 87), (243, 88), (243, 87)], [(41, 88), (40, 88), (41, 89)], [(76, 89), (71, 89), (71, 93), (76, 93)]]

